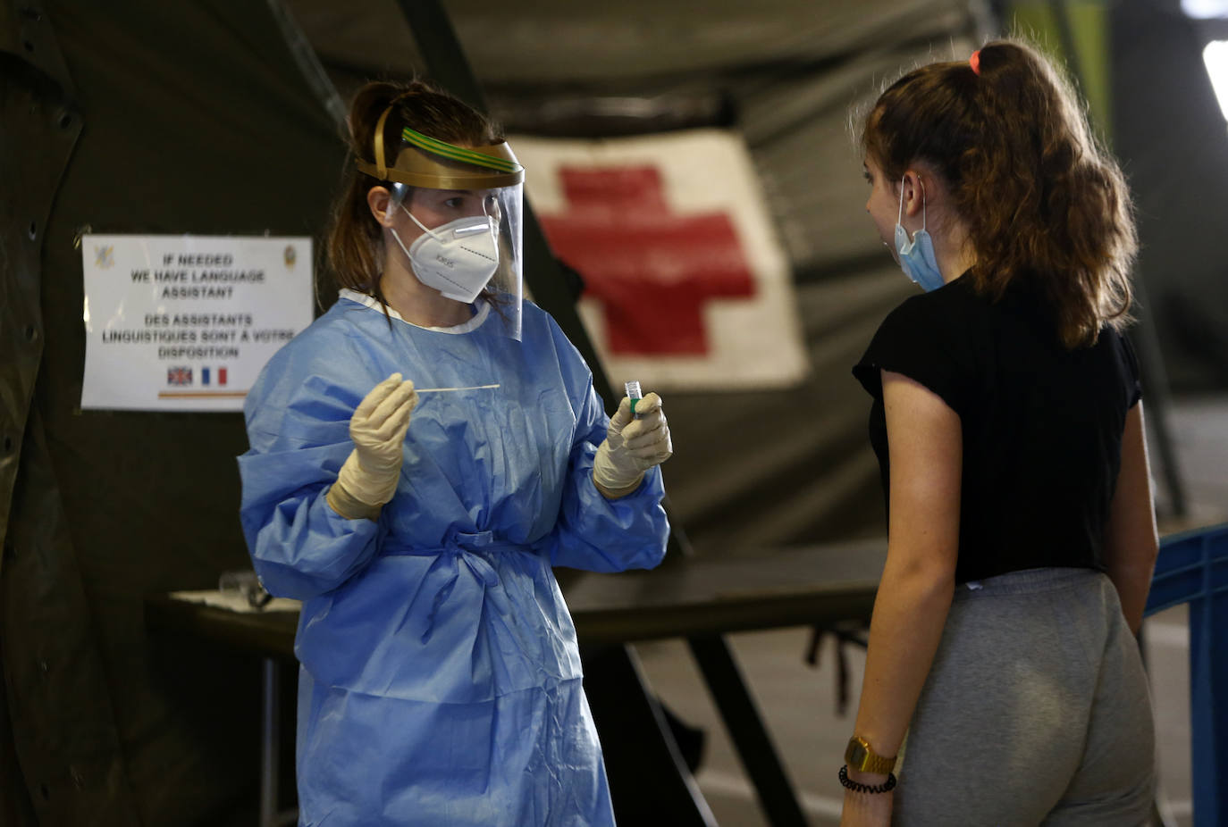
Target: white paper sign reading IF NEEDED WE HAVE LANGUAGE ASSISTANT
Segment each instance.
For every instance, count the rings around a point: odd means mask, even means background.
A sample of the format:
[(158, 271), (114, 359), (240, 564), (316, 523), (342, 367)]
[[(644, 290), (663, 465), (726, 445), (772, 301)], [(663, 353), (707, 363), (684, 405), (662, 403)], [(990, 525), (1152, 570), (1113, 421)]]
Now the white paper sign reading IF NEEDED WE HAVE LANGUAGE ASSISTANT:
[(82, 409), (237, 411), (312, 321), (307, 237), (82, 236)]

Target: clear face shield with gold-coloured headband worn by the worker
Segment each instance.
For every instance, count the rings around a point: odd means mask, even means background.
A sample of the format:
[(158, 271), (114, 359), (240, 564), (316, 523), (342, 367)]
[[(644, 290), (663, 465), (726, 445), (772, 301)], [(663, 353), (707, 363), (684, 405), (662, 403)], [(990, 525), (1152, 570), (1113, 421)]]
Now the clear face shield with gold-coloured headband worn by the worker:
[(490, 313), (484, 324), (519, 340), (524, 169), (506, 142), (463, 147), (408, 128), (395, 163), (386, 166), (388, 112), (376, 126), (376, 163), (360, 158), (357, 167), (388, 182), (388, 209), (408, 225), (392, 234), (414, 275), (446, 298), (476, 303)]

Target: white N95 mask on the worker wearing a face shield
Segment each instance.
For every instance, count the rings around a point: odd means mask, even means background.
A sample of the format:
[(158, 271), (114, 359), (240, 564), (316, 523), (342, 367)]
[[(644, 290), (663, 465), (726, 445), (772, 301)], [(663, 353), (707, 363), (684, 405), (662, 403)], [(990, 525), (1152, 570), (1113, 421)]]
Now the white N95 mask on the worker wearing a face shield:
[(414, 213), (405, 215), (422, 228), (409, 249), (395, 229), (393, 238), (405, 250), (414, 275), (446, 298), (469, 303), (478, 298), (499, 269), (499, 225), (486, 215), (465, 216), (427, 229)]

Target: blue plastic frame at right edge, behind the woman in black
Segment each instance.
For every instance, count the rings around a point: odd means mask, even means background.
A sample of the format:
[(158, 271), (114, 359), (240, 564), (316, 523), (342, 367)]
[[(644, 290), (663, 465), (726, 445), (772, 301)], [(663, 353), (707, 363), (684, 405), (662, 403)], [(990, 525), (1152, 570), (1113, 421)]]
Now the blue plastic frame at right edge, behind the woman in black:
[[(1228, 825), (1228, 523), (1160, 540), (1144, 616), (1190, 604), (1194, 825)], [(1216, 704), (1218, 698), (1219, 703)]]

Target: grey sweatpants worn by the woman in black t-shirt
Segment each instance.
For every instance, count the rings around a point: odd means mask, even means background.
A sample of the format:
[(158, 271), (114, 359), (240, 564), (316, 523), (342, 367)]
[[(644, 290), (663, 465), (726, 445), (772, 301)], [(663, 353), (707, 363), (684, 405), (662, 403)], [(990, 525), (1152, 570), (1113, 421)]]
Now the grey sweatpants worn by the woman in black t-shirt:
[(1109, 578), (1038, 568), (957, 587), (899, 779), (901, 827), (1146, 823), (1151, 699)]

